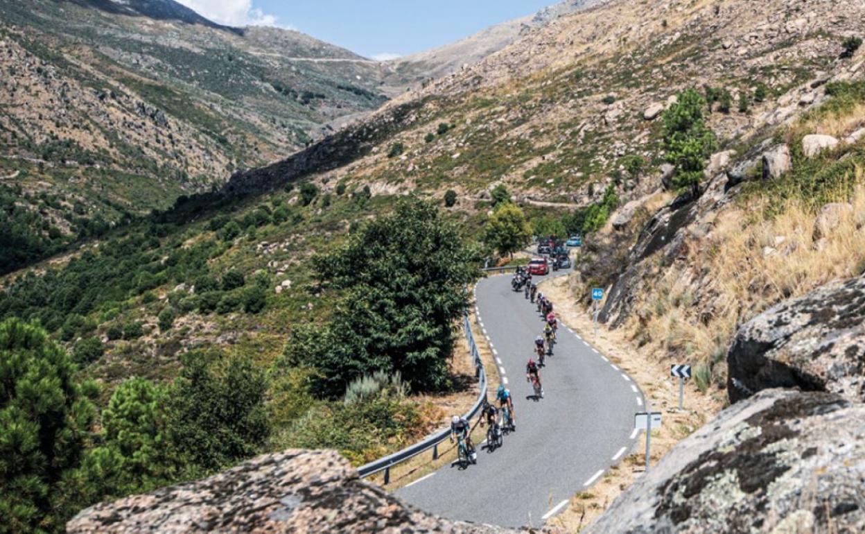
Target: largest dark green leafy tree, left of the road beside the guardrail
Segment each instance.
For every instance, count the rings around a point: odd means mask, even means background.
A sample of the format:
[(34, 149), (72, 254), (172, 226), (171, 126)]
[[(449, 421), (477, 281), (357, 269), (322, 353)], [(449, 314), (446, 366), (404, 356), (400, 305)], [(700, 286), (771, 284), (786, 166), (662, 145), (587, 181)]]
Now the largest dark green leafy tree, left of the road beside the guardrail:
[(375, 370), (399, 371), (415, 389), (448, 385), (464, 285), (477, 252), (430, 203), (405, 199), (393, 213), (367, 222), (342, 247), (317, 256), (326, 287), (341, 290), (324, 327), (292, 332), (285, 363), (320, 371), (316, 392), (340, 396), (349, 382)]

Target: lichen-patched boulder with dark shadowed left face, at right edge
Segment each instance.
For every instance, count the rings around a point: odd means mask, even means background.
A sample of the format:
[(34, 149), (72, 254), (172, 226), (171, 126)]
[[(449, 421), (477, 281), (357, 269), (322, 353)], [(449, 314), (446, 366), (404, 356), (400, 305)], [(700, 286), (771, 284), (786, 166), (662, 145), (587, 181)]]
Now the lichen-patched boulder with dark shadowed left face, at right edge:
[(865, 277), (839, 281), (760, 313), (727, 352), (736, 402), (760, 389), (830, 391), (865, 400)]

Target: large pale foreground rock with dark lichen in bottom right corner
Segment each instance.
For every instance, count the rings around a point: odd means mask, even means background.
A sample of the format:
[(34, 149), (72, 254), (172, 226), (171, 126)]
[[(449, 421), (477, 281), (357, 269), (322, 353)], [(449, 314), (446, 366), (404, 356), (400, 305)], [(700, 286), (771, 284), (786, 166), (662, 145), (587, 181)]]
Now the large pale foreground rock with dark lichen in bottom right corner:
[(588, 532), (865, 531), (865, 407), (772, 389), (734, 404)]

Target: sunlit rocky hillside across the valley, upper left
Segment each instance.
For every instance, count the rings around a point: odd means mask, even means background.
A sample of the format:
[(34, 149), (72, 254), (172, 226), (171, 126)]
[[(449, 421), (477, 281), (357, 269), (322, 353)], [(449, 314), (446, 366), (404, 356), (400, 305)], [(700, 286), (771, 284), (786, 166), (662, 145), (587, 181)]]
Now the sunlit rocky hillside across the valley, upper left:
[(0, 186), (18, 211), (9, 248), (27, 257), (285, 158), (386, 100), (373, 61), (169, 0), (3, 0), (0, 69)]

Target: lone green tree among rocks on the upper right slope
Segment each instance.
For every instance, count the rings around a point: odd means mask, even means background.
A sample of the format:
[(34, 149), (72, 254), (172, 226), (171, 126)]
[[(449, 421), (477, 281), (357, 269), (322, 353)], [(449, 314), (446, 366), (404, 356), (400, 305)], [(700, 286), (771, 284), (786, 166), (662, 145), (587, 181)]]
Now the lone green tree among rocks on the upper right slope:
[(706, 125), (706, 101), (691, 87), (679, 93), (678, 101), (663, 113), (663, 146), (666, 158), (676, 166), (673, 182), (680, 190), (699, 193), (706, 160), (717, 143)]

